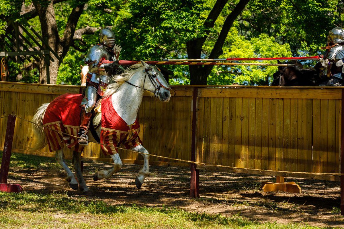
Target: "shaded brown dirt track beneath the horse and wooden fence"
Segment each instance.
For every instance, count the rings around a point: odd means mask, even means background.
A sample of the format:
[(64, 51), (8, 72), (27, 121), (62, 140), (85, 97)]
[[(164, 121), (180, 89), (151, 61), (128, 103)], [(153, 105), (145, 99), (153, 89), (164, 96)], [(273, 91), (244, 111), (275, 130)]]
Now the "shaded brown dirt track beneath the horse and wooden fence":
[[(150, 174), (141, 189), (135, 178), (141, 165), (124, 164), (111, 179), (93, 181), (99, 169), (110, 169), (111, 163), (85, 162), (84, 178), (92, 194), (111, 205), (171, 206), (198, 213), (240, 215), (251, 221), (305, 223), (318, 227), (344, 227), (339, 214), (340, 183), (320, 180), (286, 178), (302, 188), (302, 194), (264, 193), (263, 181), (274, 177), (228, 172), (200, 171), (200, 197), (190, 198), (190, 169), (150, 166)], [(11, 170), (8, 183), (19, 183), (28, 192), (66, 192), (73, 198), (82, 196), (73, 191), (59, 168), (40, 171)]]

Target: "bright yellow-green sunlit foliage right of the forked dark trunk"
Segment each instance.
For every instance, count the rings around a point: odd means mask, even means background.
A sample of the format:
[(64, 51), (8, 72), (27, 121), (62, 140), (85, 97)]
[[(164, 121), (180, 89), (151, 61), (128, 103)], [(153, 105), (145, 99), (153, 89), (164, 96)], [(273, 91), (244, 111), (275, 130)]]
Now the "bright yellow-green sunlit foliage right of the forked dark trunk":
[[(234, 40), (229, 43), (230, 40)], [(259, 57), (291, 57), (288, 44), (280, 45), (273, 37), (260, 34), (257, 38), (245, 39), (237, 35), (235, 28), (231, 29), (228, 46), (224, 46), (224, 54), (219, 58), (259, 58)], [(245, 61), (258, 63), (259, 61)], [(264, 61), (264, 63), (276, 61)], [(276, 66), (215, 66), (208, 77), (208, 84), (230, 85), (267, 85), (266, 77), (277, 71)], [(272, 79), (270, 79), (271, 81)]]

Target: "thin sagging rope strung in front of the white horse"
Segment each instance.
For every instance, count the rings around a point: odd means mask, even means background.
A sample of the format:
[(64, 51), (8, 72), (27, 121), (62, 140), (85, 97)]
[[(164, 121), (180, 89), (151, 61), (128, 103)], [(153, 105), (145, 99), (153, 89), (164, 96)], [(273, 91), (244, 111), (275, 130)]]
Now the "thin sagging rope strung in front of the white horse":
[[(43, 126), (43, 125), (40, 125), (40, 124), (37, 124), (37, 123), (34, 123), (34, 122), (31, 122), (25, 118), (21, 118), (21, 117), (18, 117), (17, 115), (13, 115), (19, 119), (22, 119), (26, 122), (29, 122), (29, 123), (32, 123), (34, 125), (37, 125), (37, 126), (42, 126), (43, 128), (47, 128), (47, 129), (50, 129), (50, 130), (53, 130), (53, 131), (56, 131), (58, 133), (61, 133), (61, 134), (65, 134), (65, 135), (69, 135), (71, 137), (75, 137), (77, 139), (80, 139), (80, 137), (78, 136), (74, 136), (74, 135), (70, 135), (70, 134), (67, 134), (67, 133), (63, 133), (62, 131), (58, 131), (58, 130), (54, 130), (52, 128), (49, 128), (49, 127), (46, 127), (46, 126)], [(109, 146), (109, 145), (106, 145), (106, 144), (103, 144), (103, 143), (99, 143), (99, 142), (95, 142), (95, 141), (91, 141), (89, 140), (89, 142), (93, 142), (95, 144), (99, 144), (99, 145), (103, 145), (103, 146)], [(154, 155), (154, 154), (150, 154), (150, 153), (143, 153), (143, 152), (138, 152), (138, 151), (134, 151), (134, 150), (130, 150), (130, 149), (124, 149), (124, 148), (120, 148), (120, 147), (114, 147), (116, 149), (122, 149), (122, 150), (127, 150), (129, 152), (135, 152), (135, 153), (140, 153), (140, 154), (143, 154), (143, 155), (149, 155), (149, 156), (153, 156), (153, 157), (157, 157), (157, 158), (163, 158), (163, 159), (169, 159), (169, 160), (175, 160), (175, 161), (180, 161), (180, 162), (187, 162), (187, 163), (195, 163), (197, 165), (210, 165), (210, 166), (215, 166), (215, 167), (220, 167), (220, 168), (227, 168), (227, 169), (241, 169), (241, 170), (247, 170), (247, 171), (258, 171), (258, 172), (278, 172), (278, 173), (290, 173), (290, 174), (308, 174), (308, 175), (332, 175), (332, 176), (341, 176), (341, 175), (344, 175), (344, 173), (313, 173), (313, 172), (292, 172), (292, 171), (280, 171), (280, 170), (265, 170), (265, 169), (250, 169), (250, 168), (239, 168), (239, 167), (233, 167), (233, 166), (227, 166), (227, 165), (220, 165), (220, 164), (209, 164), (209, 163), (203, 163), (203, 162), (196, 162), (196, 161), (189, 161), (189, 160), (182, 160), (182, 159), (176, 159), (176, 158), (170, 158), (170, 157), (164, 157), (164, 156), (159, 156), (159, 155)]]

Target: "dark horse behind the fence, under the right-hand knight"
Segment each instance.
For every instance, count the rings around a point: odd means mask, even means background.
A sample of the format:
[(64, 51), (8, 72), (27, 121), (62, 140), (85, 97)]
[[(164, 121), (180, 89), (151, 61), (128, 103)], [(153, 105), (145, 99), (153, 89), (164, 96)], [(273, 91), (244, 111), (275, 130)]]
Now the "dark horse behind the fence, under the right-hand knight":
[[(278, 61), (280, 64), (281, 62)], [(320, 77), (321, 63), (318, 62), (314, 69), (303, 68), (298, 62), (288, 62), (294, 64), (291, 67), (278, 67), (278, 71), (273, 73), (271, 86), (342, 86), (343, 81), (336, 77)], [(331, 69), (332, 71), (334, 69)], [(334, 71), (333, 71), (334, 72)]]

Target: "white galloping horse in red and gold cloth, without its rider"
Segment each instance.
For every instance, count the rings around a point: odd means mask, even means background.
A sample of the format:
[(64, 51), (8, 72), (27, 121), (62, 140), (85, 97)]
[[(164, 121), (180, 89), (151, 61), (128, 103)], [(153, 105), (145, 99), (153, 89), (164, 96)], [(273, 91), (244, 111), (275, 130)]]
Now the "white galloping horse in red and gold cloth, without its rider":
[[(129, 142), (120, 142), (117, 146), (122, 146), (127, 149), (146, 153), (142, 154), (144, 159), (143, 168), (138, 172), (137, 178), (135, 180), (137, 188), (140, 188), (144, 182), (144, 179), (149, 173), (149, 154), (148, 151), (140, 144), (140, 139), (137, 137), (139, 128), (135, 130), (131, 129), (131, 126), (135, 126), (134, 124), (137, 121), (137, 113), (142, 102), (143, 92), (145, 90), (158, 97), (160, 101), (168, 102), (171, 97), (169, 91), (171, 90), (171, 88), (163, 78), (159, 68), (148, 65), (143, 61), (131, 66), (131, 69), (125, 71), (123, 74), (115, 76), (114, 81), (114, 83), (110, 83), (106, 88), (101, 108), (103, 112), (101, 115), (102, 117), (103, 115), (106, 115), (106, 109), (105, 105), (103, 108), (103, 103), (112, 104), (113, 109), (120, 117), (119, 119), (121, 119), (121, 121), (124, 121), (124, 124), (127, 124), (127, 128), (129, 128), (127, 133), (127, 135), (129, 136)], [(80, 154), (83, 150), (83, 146), (77, 144), (78, 139), (51, 130), (60, 130), (63, 133), (76, 136), (79, 123), (72, 123), (75, 121), (71, 121), (71, 119), (80, 116), (81, 108), (79, 108), (79, 101), (81, 101), (81, 99), (82, 95), (79, 94), (65, 94), (57, 97), (51, 103), (43, 104), (37, 109), (37, 112), (32, 119), (33, 123), (39, 124), (33, 125), (34, 135), (37, 142), (32, 151), (42, 149), (48, 144), (50, 150), (55, 151), (55, 158), (57, 162), (60, 163), (62, 168), (66, 171), (66, 180), (69, 182), (69, 186), (74, 190), (77, 190), (79, 188), (81, 191), (83, 191), (84, 194), (87, 194), (90, 192), (90, 189), (87, 187), (80, 169)], [(104, 102), (106, 100), (108, 101), (107, 103)], [(55, 117), (47, 117), (49, 115), (55, 115)], [(111, 115), (108, 115), (107, 118), (109, 119), (110, 117), (111, 119)], [(61, 116), (66, 116), (69, 123), (67, 123), (64, 118), (61, 118)], [(96, 132), (98, 137), (103, 139), (104, 143), (108, 143), (109, 135), (116, 136), (117, 134), (117, 138), (119, 138), (119, 135), (123, 133), (123, 131), (119, 131), (120, 133), (118, 135), (118, 133), (112, 132), (113, 130), (117, 130), (118, 128), (111, 127), (112, 129), (110, 128), (109, 130), (108, 128), (102, 127), (103, 124), (104, 117), (102, 119), (102, 125), (96, 127)], [(44, 128), (42, 127), (42, 125), (51, 129)], [(110, 132), (108, 131), (108, 133), (105, 134), (107, 130), (109, 130)], [(101, 134), (103, 135), (101, 136)], [(128, 136), (125, 137), (126, 140), (128, 140)], [(88, 133), (88, 137), (91, 141), (95, 141), (92, 134)], [(74, 164), (77, 180), (64, 161), (63, 145), (65, 143), (67, 147), (73, 150), (72, 162)], [(130, 146), (134, 147), (131, 148)], [(98, 171), (94, 175), (95, 181), (103, 178), (110, 178), (112, 174), (118, 172), (122, 167), (122, 161), (118, 153), (114, 152), (116, 150), (116, 145), (105, 148), (106, 150), (104, 150), (103, 152), (108, 152), (108, 154), (110, 154), (110, 157), (114, 160), (115, 164), (114, 167), (109, 170)], [(114, 154), (109, 153), (111, 150), (114, 152)]]

